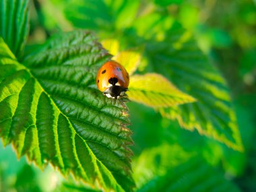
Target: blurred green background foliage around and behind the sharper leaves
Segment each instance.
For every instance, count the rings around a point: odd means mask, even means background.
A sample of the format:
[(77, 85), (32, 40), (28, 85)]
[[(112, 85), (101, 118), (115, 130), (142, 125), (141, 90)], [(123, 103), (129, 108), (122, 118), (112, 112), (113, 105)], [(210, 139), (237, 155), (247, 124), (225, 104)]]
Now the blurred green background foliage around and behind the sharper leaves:
[[(129, 103), (137, 187), (139, 191), (187, 191), (186, 187), (194, 191), (256, 191), (255, 1), (46, 0), (32, 1), (32, 7), (28, 38), (31, 44), (44, 42), (61, 30), (86, 28), (94, 30), (99, 38), (116, 38), (122, 49), (129, 49), (141, 46), (145, 40), (159, 42), (169, 38), (167, 29), (181, 23), (195, 36), (232, 90), (245, 152), (235, 152), (197, 131), (181, 129), (177, 121), (163, 118), (151, 108)], [(142, 19), (134, 22), (137, 14)], [(26, 47), (28, 52), (32, 49), (34, 46)], [(160, 71), (152, 65), (140, 67), (143, 71)], [(1, 146), (0, 191), (71, 189), (92, 190), (72, 179), (64, 181), (51, 168), (41, 172), (27, 166), (24, 158), (16, 160), (10, 147)]]

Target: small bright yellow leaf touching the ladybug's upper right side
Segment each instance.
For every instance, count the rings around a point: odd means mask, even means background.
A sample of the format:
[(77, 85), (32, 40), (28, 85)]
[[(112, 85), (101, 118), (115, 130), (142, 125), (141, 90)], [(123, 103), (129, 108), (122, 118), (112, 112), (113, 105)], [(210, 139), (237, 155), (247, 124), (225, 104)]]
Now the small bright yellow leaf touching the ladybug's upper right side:
[(139, 66), (141, 55), (135, 51), (121, 51), (113, 57), (113, 60), (121, 63), (129, 75), (132, 75)]

